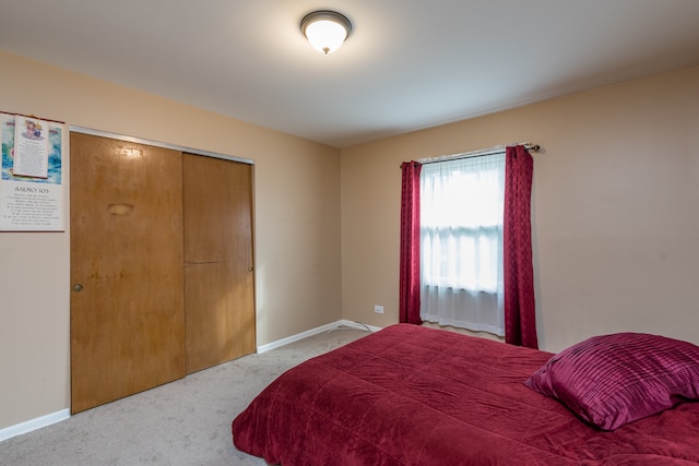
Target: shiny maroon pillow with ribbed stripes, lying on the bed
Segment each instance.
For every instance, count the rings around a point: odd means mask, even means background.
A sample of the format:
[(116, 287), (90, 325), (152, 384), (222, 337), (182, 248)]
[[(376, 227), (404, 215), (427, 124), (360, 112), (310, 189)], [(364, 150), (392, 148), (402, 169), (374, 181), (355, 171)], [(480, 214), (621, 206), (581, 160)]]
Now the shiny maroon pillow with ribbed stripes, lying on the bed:
[(524, 384), (614, 430), (699, 399), (699, 347), (642, 333), (593, 336), (552, 357)]

